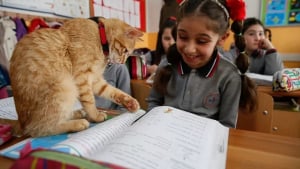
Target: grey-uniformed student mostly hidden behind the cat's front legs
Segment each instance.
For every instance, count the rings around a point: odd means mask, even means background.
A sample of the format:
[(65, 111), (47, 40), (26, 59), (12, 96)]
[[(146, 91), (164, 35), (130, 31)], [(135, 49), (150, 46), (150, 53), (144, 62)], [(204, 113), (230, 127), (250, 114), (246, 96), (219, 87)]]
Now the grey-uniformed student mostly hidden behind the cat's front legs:
[[(108, 63), (103, 73), (104, 79), (112, 86), (131, 94), (130, 75), (125, 64)], [(96, 106), (106, 110), (117, 110), (120, 112), (127, 111), (121, 105), (106, 100), (102, 97), (95, 96)]]

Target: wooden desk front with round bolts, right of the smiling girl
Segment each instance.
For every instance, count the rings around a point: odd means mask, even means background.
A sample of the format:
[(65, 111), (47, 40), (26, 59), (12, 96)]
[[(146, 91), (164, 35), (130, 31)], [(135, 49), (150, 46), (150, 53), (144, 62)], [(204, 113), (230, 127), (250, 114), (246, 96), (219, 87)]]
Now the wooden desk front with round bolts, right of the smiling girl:
[(297, 92), (258, 90), (258, 109), (255, 112), (239, 111), (237, 129), (271, 133), (300, 138), (300, 112), (274, 109), (273, 97), (296, 97)]

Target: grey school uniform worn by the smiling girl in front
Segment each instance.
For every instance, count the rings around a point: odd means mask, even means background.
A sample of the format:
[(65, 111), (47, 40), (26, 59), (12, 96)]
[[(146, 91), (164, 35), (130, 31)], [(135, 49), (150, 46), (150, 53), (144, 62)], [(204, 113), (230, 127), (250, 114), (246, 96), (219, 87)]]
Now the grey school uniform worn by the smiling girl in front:
[[(166, 60), (161, 62), (159, 69), (167, 64)], [(152, 88), (148, 111), (156, 106), (173, 106), (236, 127), (241, 76), (234, 64), (215, 51), (213, 58), (202, 68), (191, 69), (182, 60), (172, 68), (167, 85), (169, 95), (163, 96)]]

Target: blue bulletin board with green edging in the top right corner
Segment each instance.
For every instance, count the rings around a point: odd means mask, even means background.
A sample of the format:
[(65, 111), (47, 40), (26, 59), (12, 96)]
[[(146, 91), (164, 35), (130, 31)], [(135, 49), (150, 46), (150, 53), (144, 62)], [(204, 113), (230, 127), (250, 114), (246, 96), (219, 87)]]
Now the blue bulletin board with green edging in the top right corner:
[(300, 25), (300, 0), (262, 0), (261, 20), (265, 26)]

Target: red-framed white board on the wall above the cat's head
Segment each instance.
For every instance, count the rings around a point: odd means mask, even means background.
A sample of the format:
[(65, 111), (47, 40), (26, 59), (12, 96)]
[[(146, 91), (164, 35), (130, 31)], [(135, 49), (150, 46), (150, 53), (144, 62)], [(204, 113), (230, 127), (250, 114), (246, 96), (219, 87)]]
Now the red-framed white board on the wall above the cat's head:
[(145, 0), (93, 0), (91, 16), (118, 18), (146, 31)]

